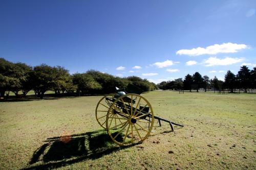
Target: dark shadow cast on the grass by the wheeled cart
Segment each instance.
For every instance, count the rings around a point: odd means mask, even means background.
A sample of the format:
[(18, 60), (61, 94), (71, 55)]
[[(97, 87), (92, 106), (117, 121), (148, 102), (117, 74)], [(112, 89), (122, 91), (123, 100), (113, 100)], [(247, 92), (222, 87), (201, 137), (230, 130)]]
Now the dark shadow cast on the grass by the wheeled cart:
[[(116, 140), (121, 141), (122, 136)], [(34, 152), (28, 167), (23, 169), (58, 168), (128, 148), (119, 147), (104, 130), (48, 138), (45, 142)]]

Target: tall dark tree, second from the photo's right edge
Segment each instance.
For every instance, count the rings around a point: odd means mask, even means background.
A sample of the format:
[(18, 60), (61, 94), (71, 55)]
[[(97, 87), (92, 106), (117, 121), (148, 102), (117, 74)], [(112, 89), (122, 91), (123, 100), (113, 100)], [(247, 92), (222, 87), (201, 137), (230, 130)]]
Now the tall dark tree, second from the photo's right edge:
[(240, 88), (244, 88), (245, 92), (247, 92), (247, 88), (250, 87), (250, 70), (246, 65), (240, 67), (240, 70), (237, 74), (237, 80)]

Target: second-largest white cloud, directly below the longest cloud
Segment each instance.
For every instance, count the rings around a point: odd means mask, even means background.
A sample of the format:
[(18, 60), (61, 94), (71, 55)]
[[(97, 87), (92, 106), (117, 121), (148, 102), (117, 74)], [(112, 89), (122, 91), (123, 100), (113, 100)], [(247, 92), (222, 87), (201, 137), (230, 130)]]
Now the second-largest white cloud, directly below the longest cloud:
[(243, 58), (230, 58), (226, 57), (224, 59), (219, 59), (217, 57), (209, 57), (204, 61), (205, 66), (214, 66), (214, 65), (231, 65), (243, 61)]

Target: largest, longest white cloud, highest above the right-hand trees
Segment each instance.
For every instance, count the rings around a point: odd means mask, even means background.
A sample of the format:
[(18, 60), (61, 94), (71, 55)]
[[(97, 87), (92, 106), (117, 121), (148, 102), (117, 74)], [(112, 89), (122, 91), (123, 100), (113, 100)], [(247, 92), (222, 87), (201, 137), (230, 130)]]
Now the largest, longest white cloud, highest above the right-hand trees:
[(179, 50), (176, 52), (176, 55), (189, 55), (189, 56), (199, 56), (204, 54), (218, 54), (218, 53), (237, 53), (238, 50), (242, 50), (244, 48), (249, 48), (245, 44), (237, 44), (237, 43), (223, 43), (223, 44), (214, 44), (207, 46), (206, 48), (197, 47), (191, 50)]

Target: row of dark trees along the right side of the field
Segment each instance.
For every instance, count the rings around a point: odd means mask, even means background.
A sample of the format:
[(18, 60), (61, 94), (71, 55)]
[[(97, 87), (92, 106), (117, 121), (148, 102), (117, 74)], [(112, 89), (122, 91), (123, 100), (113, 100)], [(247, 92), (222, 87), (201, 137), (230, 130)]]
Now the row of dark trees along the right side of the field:
[(187, 74), (182, 78), (175, 79), (174, 81), (163, 81), (157, 86), (160, 89), (175, 89), (175, 90), (189, 90), (196, 89), (197, 92), (200, 88), (205, 91), (211, 90), (228, 90), (233, 92), (234, 89), (243, 89), (247, 92), (248, 89), (256, 89), (256, 67), (250, 70), (246, 65), (240, 67), (237, 75), (234, 75), (232, 71), (228, 70), (224, 81), (219, 80), (216, 76), (213, 79), (209, 79), (207, 75), (202, 76), (199, 72), (195, 72), (194, 75)]

